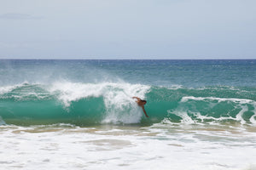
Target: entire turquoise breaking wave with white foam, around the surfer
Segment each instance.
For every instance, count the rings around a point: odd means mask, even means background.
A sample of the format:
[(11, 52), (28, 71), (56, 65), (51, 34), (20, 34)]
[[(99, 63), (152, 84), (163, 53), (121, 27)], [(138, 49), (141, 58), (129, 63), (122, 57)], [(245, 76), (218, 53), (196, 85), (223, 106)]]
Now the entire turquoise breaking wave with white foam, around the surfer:
[[(0, 88), (2, 124), (256, 124), (256, 88), (165, 88), (125, 82), (24, 82)], [(147, 99), (145, 110), (132, 96)]]

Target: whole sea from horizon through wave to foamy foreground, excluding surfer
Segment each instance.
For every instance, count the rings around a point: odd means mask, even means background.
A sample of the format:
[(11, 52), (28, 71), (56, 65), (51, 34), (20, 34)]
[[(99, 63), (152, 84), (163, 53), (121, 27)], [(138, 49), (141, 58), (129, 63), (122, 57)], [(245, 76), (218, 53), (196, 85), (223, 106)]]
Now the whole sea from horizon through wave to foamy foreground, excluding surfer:
[(2, 59), (0, 116), (0, 169), (254, 170), (256, 60)]

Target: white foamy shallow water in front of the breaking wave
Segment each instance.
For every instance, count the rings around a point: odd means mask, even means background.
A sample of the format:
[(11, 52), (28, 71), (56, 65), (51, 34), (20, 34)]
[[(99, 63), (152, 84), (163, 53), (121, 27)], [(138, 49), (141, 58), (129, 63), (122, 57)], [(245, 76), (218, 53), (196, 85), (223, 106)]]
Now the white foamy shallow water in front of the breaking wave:
[(255, 128), (1, 127), (0, 169), (254, 170)]

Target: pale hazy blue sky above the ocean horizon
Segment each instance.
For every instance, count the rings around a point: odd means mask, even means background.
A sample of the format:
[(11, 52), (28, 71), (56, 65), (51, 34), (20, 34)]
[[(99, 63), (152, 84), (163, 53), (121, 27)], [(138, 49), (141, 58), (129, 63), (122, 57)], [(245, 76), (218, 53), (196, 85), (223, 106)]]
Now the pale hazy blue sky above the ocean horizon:
[(256, 1), (0, 0), (0, 59), (256, 59)]

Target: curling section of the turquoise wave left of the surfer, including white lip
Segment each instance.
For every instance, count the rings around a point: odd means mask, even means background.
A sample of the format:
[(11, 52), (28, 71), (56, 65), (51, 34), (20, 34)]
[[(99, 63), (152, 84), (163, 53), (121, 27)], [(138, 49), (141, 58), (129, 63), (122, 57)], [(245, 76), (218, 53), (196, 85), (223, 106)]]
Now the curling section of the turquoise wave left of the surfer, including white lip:
[(45, 86), (25, 82), (1, 91), (0, 115), (6, 123), (90, 125), (140, 122), (142, 112), (131, 97), (144, 97), (148, 86), (112, 82), (56, 82)]

